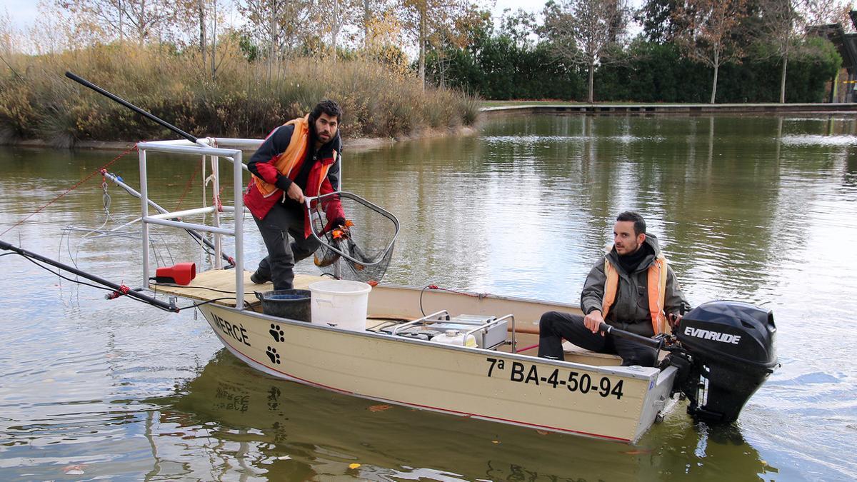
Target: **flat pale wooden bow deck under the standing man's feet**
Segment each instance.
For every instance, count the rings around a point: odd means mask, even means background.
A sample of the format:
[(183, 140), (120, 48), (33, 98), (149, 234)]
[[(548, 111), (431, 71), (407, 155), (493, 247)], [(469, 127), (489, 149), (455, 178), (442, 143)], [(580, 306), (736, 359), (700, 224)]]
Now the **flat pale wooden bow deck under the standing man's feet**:
[[(253, 272), (244, 270), (244, 301), (249, 306), (253, 306), (259, 304), (259, 300), (253, 292), (271, 291), (273, 290), (273, 283), (257, 285), (250, 280), (250, 274)], [(297, 289), (305, 290), (308, 289), (310, 283), (321, 279), (321, 276), (312, 274), (295, 274), (294, 285)], [(235, 271), (231, 269), (211, 269), (197, 274), (188, 286), (150, 283), (149, 287), (155, 292), (201, 301), (224, 298), (218, 299), (214, 303), (235, 306)]]

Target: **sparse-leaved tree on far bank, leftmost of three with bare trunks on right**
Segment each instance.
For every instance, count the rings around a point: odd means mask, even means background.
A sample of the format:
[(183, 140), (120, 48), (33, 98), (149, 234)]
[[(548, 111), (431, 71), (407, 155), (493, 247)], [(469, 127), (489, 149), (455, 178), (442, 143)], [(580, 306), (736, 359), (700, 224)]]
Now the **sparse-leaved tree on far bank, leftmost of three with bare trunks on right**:
[(624, 35), (628, 9), (623, 0), (562, 0), (548, 2), (542, 33), (556, 54), (589, 70), (587, 101), (593, 101), (595, 67), (608, 62), (611, 45)]

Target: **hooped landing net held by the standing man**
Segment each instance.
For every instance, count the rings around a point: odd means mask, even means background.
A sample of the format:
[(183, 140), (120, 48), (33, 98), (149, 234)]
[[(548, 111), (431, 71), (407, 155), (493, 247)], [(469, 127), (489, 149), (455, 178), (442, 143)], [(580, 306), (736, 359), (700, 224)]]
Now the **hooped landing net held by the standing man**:
[[(339, 198), (346, 226), (328, 229), (324, 207)], [(399, 220), (360, 196), (335, 192), (308, 201), (313, 236), (321, 242), (313, 261), (322, 273), (340, 280), (380, 282), (393, 257)]]

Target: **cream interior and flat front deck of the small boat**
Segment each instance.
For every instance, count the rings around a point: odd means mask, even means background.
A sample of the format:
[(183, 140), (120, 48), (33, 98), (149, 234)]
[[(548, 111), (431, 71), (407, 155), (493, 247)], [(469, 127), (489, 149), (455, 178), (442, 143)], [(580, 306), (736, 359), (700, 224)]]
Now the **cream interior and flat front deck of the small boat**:
[[(255, 284), (251, 272), (244, 272), (244, 309), (262, 312), (256, 293), (270, 292), (273, 284)], [(309, 289), (323, 276), (296, 274), (294, 287)], [(216, 269), (196, 274), (186, 286), (151, 283), (156, 293), (235, 307), (235, 272)], [(377, 333), (428, 340), (456, 329), (466, 340), (470, 334), (476, 346), (500, 352), (536, 356), (538, 320), (542, 313), (561, 310), (579, 313), (578, 306), (523, 298), (507, 298), (487, 293), (461, 292), (428, 286), (378, 285), (369, 293), (366, 329)], [(563, 342), (566, 361), (585, 365), (620, 365), (618, 356), (584, 350)]]

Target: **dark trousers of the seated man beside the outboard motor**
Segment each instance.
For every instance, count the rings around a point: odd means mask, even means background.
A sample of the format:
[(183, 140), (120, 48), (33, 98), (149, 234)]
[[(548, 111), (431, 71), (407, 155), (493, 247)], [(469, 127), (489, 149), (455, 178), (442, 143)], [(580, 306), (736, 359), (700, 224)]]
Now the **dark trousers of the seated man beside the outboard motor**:
[(622, 358), (622, 366), (655, 366), (657, 350), (615, 336), (592, 333), (584, 325), (584, 317), (560, 311), (548, 311), (539, 321), (538, 356), (565, 359), (562, 339), (590, 352), (612, 353)]

